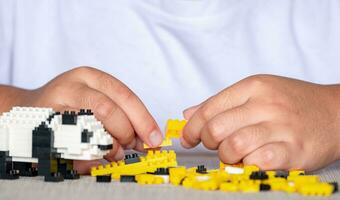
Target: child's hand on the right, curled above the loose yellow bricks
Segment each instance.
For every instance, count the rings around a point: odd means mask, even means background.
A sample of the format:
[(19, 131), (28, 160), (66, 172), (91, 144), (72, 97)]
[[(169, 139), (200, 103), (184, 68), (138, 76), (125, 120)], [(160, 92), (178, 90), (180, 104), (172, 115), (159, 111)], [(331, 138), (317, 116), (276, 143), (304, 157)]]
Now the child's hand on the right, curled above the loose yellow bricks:
[(225, 163), (320, 168), (339, 159), (339, 89), (269, 75), (246, 78), (184, 112), (182, 145), (202, 141)]

